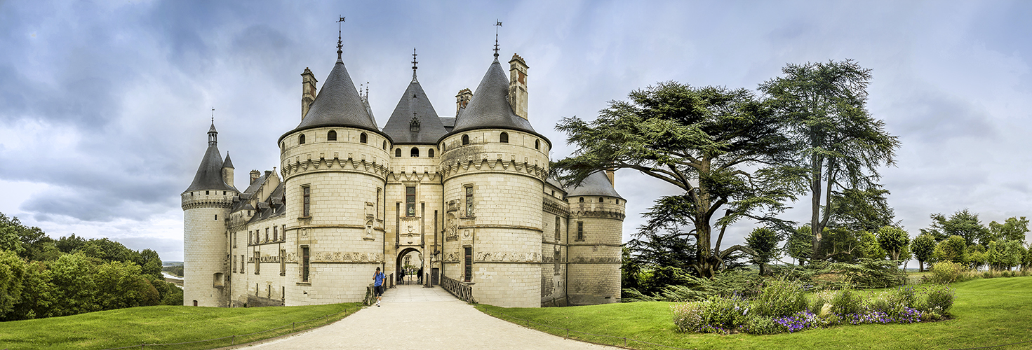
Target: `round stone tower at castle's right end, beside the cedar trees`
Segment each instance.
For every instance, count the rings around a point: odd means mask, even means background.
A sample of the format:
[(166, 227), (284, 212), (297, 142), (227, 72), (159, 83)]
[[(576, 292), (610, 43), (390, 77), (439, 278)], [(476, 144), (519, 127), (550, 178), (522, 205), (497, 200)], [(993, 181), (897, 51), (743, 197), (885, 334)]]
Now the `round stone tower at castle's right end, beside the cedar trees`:
[(612, 171), (588, 175), (569, 188), (570, 305), (616, 303), (620, 297), (620, 243), (626, 202), (613, 189)]

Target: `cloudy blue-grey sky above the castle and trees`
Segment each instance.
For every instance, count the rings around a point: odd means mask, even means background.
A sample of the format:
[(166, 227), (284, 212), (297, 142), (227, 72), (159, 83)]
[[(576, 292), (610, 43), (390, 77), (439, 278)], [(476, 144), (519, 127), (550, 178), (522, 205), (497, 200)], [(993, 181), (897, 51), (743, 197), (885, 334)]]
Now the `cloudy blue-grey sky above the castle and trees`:
[[(882, 169), (911, 235), (930, 213), (1032, 216), (1032, 2), (1026, 1), (105, 1), (0, 0), (0, 212), (51, 237), (107, 237), (183, 258), (179, 195), (216, 108), (236, 183), (279, 163), (300, 118), (300, 73), (336, 59), (368, 82), (382, 127), (411, 79), (438, 113), (502, 57), (530, 66), (529, 118), (554, 144), (561, 117), (677, 80), (755, 89), (786, 63), (873, 69), (869, 110), (902, 142)], [(673, 188), (624, 170), (624, 239)], [(784, 217), (805, 220), (802, 203)], [(725, 241), (741, 242), (743, 222)]]

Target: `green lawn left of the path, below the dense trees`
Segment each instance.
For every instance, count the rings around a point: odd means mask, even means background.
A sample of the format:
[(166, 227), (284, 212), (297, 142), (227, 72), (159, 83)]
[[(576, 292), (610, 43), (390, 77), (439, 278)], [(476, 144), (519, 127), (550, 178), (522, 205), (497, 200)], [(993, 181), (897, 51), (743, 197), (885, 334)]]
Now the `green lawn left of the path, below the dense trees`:
[[(253, 342), (291, 332), (292, 328), (326, 324), (357, 311), (358, 306), (358, 303), (248, 309), (157, 306), (0, 322), (0, 349), (106, 349), (139, 346), (140, 343), (182, 343), (247, 335), (286, 325), (278, 330), (249, 337), (160, 347), (213, 349), (228, 346), (230, 342)], [(330, 316), (309, 321), (326, 315)], [(297, 323), (292, 325), (292, 322)]]

